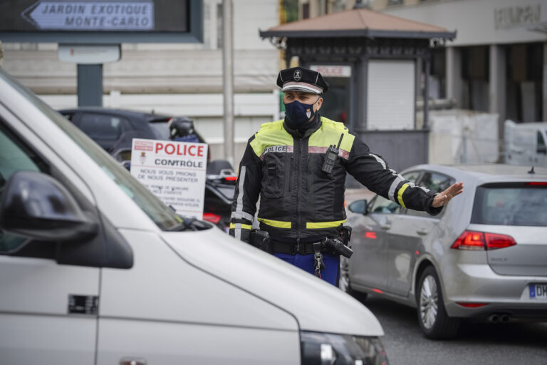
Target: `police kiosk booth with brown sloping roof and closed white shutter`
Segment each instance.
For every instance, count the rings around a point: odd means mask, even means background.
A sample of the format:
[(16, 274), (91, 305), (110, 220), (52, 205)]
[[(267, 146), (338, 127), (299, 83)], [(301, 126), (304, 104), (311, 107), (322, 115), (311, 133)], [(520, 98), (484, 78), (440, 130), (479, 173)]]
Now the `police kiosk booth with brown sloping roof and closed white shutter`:
[[(346, 123), (391, 168), (427, 162), (432, 48), (454, 39), (439, 26), (353, 9), (260, 31), (286, 64), (320, 71), (330, 84), (322, 115)], [(420, 110), (421, 109), (421, 110)]]

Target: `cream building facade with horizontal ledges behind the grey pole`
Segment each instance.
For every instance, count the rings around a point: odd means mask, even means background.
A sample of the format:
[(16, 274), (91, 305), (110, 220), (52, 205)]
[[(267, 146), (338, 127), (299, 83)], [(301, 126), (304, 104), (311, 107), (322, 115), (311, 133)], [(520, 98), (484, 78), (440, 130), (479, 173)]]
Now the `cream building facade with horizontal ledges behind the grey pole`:
[[(103, 65), (103, 106), (194, 118), (222, 158), (222, 0), (203, 0), (203, 43), (123, 43)], [(261, 123), (278, 118), (279, 53), (259, 29), (279, 22), (277, 0), (233, 1), (235, 161)], [(1, 39), (0, 39), (1, 41)], [(73, 108), (76, 65), (59, 61), (57, 43), (3, 43), (2, 67), (53, 108)]]

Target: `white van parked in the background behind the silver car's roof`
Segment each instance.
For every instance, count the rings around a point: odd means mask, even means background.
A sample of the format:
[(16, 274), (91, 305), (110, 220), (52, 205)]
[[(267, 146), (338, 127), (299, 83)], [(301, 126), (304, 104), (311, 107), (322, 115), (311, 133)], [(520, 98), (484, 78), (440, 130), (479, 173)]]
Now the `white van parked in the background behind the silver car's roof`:
[(547, 168), (547, 122), (505, 121), (505, 163)]

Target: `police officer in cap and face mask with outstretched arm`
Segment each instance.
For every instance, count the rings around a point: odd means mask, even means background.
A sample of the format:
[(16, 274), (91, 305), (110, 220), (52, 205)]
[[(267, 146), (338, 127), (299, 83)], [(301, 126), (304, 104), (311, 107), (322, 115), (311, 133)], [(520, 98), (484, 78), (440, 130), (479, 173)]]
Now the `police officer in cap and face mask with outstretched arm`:
[(319, 115), (328, 90), (321, 73), (288, 68), (278, 74), (277, 85), (285, 93), (285, 118), (261, 125), (249, 138), (239, 165), (230, 235), (249, 242), (260, 197), (258, 220), (269, 233), (267, 250), (338, 285), (340, 252), (323, 245), (320, 268), (316, 254), (317, 242), (343, 240), (348, 233), (343, 227), (346, 172), (382, 197), (431, 215), (462, 192), (462, 183), (440, 194), (415, 186), (343, 123)]

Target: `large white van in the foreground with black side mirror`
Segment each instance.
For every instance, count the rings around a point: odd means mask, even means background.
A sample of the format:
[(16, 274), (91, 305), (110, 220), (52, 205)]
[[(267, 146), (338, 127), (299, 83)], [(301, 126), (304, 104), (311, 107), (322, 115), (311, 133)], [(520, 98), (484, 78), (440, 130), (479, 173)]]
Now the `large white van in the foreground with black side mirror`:
[(0, 364), (387, 364), (360, 302), (181, 220), (0, 69)]

